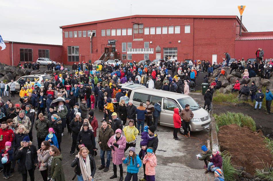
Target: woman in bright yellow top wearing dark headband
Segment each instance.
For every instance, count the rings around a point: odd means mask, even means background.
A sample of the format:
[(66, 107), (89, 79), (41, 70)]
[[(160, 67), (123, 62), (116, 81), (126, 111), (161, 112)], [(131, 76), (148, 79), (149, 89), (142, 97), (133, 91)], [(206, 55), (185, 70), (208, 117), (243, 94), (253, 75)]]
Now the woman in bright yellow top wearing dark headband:
[(128, 126), (123, 128), (123, 132), (126, 138), (125, 152), (129, 147), (136, 147), (136, 140), (138, 138), (139, 130), (137, 130), (137, 128), (134, 126), (134, 120), (129, 120)]

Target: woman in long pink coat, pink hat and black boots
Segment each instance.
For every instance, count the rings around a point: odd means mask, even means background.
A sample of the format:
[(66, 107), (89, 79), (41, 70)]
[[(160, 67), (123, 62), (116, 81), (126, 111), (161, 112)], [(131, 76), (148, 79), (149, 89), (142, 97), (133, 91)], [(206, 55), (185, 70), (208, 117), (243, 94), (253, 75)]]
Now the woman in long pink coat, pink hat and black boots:
[(116, 130), (116, 134), (111, 136), (108, 140), (107, 145), (112, 148), (112, 160), (113, 160), (113, 170), (114, 175), (110, 179), (117, 178), (117, 165), (120, 167), (120, 179), (123, 180), (123, 168), (122, 168), (122, 158), (124, 157), (124, 149), (126, 148), (126, 138), (123, 136), (120, 129)]

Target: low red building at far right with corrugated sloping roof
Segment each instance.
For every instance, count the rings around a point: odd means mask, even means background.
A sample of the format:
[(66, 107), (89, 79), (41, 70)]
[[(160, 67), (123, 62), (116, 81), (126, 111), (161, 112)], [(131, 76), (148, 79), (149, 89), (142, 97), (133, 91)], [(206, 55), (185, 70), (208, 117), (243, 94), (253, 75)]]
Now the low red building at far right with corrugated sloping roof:
[(264, 60), (273, 58), (273, 31), (243, 32), (235, 40), (235, 57), (237, 59), (255, 58), (258, 48), (264, 50)]

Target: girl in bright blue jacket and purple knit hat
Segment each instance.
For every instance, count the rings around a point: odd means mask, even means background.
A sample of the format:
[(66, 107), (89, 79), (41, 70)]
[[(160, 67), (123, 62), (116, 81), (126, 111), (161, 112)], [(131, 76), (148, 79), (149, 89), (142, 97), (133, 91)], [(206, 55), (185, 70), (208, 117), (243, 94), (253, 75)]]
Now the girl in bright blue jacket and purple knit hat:
[(137, 181), (137, 173), (139, 172), (139, 168), (141, 167), (141, 160), (139, 156), (135, 153), (135, 148), (131, 147), (129, 150), (129, 156), (126, 158), (122, 158), (124, 164), (127, 165), (127, 175), (124, 181), (130, 181), (133, 177), (132, 181)]

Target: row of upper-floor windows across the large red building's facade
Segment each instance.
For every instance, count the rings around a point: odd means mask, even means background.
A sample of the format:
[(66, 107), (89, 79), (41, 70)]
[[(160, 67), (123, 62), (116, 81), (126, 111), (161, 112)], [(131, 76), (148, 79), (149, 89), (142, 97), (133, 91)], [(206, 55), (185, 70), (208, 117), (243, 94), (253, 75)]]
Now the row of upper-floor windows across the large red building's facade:
[[(134, 24), (134, 34), (143, 33), (143, 24)], [(185, 25), (184, 33), (190, 33), (191, 26)], [(96, 36), (96, 30), (85, 31), (65, 31), (65, 38), (72, 37), (89, 37), (89, 33), (94, 32)], [(144, 35), (155, 34), (174, 34), (180, 33), (180, 26), (163, 26), (163, 27), (144, 27)], [(102, 29), (101, 36), (126, 36), (132, 35), (132, 28), (119, 28), (119, 29)]]

